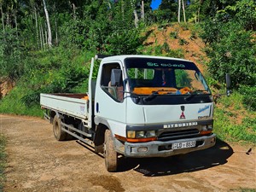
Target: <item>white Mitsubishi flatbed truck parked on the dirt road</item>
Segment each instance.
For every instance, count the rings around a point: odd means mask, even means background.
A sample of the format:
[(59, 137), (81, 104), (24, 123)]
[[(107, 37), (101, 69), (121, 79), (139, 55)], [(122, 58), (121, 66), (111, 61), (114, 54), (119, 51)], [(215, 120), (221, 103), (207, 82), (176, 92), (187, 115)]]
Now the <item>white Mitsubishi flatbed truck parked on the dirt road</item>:
[[(94, 63), (101, 60), (96, 69)], [(97, 77), (93, 79), (93, 72)], [(78, 138), (117, 171), (119, 154), (167, 157), (212, 147), (212, 93), (192, 61), (96, 55), (86, 94), (41, 94), (56, 140)]]

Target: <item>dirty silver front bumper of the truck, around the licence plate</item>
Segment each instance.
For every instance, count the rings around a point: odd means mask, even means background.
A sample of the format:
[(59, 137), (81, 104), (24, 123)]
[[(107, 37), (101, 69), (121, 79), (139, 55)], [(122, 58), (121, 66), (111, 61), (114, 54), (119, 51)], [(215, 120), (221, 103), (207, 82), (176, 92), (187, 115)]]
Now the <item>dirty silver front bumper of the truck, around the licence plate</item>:
[[(172, 149), (172, 143), (183, 143), (195, 141), (193, 148), (179, 148)], [(167, 142), (148, 142), (148, 143), (125, 143), (125, 156), (126, 157), (168, 157), (175, 154), (187, 154), (192, 151), (211, 148), (216, 143), (216, 135), (211, 136), (179, 139)], [(143, 148), (143, 150), (141, 150)], [(145, 150), (147, 148), (147, 150)]]

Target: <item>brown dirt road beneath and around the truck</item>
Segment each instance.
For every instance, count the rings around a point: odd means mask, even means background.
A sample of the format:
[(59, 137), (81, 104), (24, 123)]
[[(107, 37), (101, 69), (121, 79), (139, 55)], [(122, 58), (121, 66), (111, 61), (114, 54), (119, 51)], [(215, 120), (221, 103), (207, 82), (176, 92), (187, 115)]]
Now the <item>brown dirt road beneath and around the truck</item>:
[(256, 189), (256, 148), (218, 141), (182, 157), (125, 159), (119, 172), (76, 140), (57, 142), (44, 119), (0, 114), (7, 137), (4, 191), (240, 191)]

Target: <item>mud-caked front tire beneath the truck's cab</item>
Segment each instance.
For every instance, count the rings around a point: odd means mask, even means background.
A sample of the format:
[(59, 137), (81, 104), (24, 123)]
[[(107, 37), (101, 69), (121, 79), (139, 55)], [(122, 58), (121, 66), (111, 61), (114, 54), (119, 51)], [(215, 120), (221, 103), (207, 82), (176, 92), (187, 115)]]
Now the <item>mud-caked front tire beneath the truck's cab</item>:
[(104, 141), (105, 166), (108, 172), (116, 172), (118, 166), (118, 154), (114, 150), (113, 137), (111, 131), (105, 131)]

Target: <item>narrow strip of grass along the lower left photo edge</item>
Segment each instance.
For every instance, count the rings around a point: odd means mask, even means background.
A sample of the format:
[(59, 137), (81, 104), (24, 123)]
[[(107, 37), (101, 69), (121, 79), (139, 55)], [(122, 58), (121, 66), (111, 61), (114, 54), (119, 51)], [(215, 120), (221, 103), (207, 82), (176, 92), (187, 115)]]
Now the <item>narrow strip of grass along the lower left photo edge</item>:
[(3, 183), (5, 182), (4, 169), (6, 166), (6, 154), (5, 154), (6, 140), (3, 134), (0, 133), (0, 191), (3, 191)]

